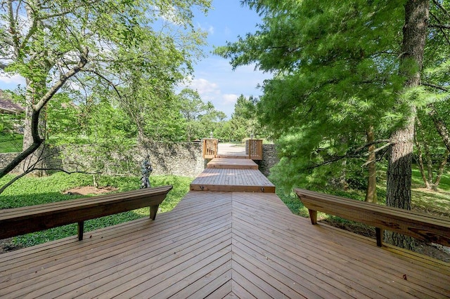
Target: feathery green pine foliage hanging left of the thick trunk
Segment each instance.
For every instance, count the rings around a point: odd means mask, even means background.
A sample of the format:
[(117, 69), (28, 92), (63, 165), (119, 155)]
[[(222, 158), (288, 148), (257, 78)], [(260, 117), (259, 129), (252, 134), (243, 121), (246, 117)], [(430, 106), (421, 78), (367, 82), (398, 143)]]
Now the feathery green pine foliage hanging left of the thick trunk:
[[(389, 130), (402, 115), (392, 113), (403, 84), (396, 46), (401, 40), (398, 29), (386, 30), (401, 28), (399, 3), (246, 3), (264, 15), (264, 24), (217, 53), (231, 58), (233, 67), (256, 62), (275, 74), (264, 84), (258, 114), (286, 148), (276, 175), (292, 187), (294, 173), (316, 173), (308, 179), (314, 185), (330, 178), (331, 170), (341, 177), (342, 167), (350, 165), (330, 168), (332, 161), (364, 159), (371, 145), (382, 145), (377, 152), (385, 149)], [(373, 142), (367, 141), (368, 131), (376, 136)], [(329, 171), (316, 168), (320, 165)], [(283, 175), (288, 168), (290, 175)]]

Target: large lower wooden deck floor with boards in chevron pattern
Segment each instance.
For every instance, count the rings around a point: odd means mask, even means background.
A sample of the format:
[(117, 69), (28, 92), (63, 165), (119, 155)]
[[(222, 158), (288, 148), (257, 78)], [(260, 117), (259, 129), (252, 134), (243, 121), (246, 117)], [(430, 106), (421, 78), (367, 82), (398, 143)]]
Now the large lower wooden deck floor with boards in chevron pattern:
[(313, 226), (262, 192), (191, 191), (154, 222), (0, 255), (0, 298), (446, 298), (449, 281), (449, 264)]

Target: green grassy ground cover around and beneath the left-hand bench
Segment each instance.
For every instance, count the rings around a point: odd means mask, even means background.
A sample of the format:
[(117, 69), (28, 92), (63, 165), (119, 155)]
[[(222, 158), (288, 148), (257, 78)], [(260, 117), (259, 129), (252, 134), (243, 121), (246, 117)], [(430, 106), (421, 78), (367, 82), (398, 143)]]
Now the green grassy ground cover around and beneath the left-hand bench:
[[(7, 175), (0, 179), (0, 185), (4, 185), (12, 175)], [(101, 186), (111, 186), (119, 188), (118, 191), (139, 189), (140, 181), (137, 177), (113, 177), (101, 176), (98, 180)], [(160, 205), (160, 213), (171, 211), (179, 203), (189, 190), (189, 184), (192, 178), (178, 176), (150, 176), (152, 186), (173, 185), (174, 188), (167, 194), (165, 201)], [(81, 195), (63, 194), (68, 189), (92, 185), (92, 175), (75, 173), (67, 175), (65, 173), (55, 173), (45, 178), (24, 177), (8, 187), (0, 195), (0, 208), (16, 208), (20, 206), (30, 206), (34, 204), (46, 204), (53, 201), (63, 201), (84, 197)], [(98, 230), (102, 227), (116, 225), (130, 220), (136, 220), (142, 217), (148, 217), (148, 208), (140, 208), (135, 211), (129, 211), (116, 215), (110, 215), (102, 218), (88, 220), (84, 222), (84, 231)], [(65, 225), (55, 227), (50, 230), (25, 234), (13, 238), (15, 246), (33, 246), (64, 237), (70, 237), (77, 234), (77, 225)]]

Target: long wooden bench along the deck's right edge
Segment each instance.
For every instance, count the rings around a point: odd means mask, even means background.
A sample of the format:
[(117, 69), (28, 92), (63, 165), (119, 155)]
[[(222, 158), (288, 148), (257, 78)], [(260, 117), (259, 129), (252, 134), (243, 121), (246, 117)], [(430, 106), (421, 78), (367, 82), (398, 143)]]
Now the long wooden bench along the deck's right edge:
[(295, 189), (294, 191), (308, 208), (313, 225), (317, 224), (317, 211), (321, 211), (374, 226), (378, 246), (383, 244), (383, 230), (450, 246), (449, 219), (309, 190)]

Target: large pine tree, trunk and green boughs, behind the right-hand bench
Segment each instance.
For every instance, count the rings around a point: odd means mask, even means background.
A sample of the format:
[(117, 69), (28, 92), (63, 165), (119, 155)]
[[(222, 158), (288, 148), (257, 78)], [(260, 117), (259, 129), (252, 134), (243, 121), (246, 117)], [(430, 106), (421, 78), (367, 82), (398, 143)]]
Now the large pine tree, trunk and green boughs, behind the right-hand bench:
[[(444, 49), (449, 45), (448, 2), (245, 3), (264, 16), (263, 25), (217, 53), (231, 58), (233, 67), (256, 62), (260, 69), (276, 74), (264, 84), (259, 103), (262, 121), (281, 140), (283, 158), (274, 172), (290, 184), (300, 177), (314, 184), (314, 173), (329, 178), (342, 172), (344, 164), (332, 168), (330, 163), (383, 153), (390, 146), (387, 205), (411, 208), (417, 109), (426, 105), (430, 109), (433, 102), (448, 98), (448, 50)], [(430, 3), (433, 22), (429, 25)], [(428, 27), (433, 29), (430, 34)], [(427, 39), (430, 49), (425, 48)], [(425, 59), (425, 50), (434, 53)], [(437, 96), (421, 84), (424, 59), (430, 66), (427, 77), (435, 79), (426, 86), (446, 95)], [(378, 136), (373, 142), (363, 137), (369, 131)], [(371, 150), (371, 145), (381, 146)], [(369, 152), (363, 153), (366, 149)], [(322, 165), (329, 166), (328, 173), (316, 168)], [(387, 240), (406, 248), (412, 245), (394, 234)]]

